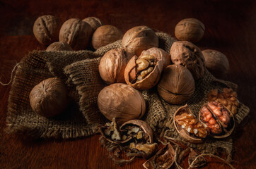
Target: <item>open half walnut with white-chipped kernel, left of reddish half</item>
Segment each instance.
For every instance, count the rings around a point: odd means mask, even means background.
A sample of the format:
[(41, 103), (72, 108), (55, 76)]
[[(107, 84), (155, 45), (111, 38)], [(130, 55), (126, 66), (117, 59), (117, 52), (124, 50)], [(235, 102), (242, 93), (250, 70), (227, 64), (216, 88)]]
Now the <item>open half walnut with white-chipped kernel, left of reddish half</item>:
[(200, 143), (208, 135), (206, 125), (194, 117), (187, 104), (178, 108), (173, 117), (175, 129), (187, 142)]

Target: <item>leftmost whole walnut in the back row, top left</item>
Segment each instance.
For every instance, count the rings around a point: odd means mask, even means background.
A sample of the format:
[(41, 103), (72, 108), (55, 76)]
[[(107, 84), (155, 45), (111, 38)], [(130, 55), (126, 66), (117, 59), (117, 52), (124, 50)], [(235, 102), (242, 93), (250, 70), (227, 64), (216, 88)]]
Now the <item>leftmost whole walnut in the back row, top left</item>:
[(59, 29), (62, 23), (53, 15), (42, 15), (35, 20), (33, 33), (41, 44), (49, 45), (58, 41)]

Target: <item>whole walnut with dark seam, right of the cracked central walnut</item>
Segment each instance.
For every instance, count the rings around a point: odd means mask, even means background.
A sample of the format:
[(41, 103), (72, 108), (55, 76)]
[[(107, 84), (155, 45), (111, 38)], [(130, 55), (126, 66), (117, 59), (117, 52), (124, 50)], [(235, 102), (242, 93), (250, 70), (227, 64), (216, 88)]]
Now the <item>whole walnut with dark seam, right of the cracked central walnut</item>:
[(182, 65), (168, 65), (158, 84), (158, 94), (169, 104), (182, 104), (194, 93), (194, 79)]

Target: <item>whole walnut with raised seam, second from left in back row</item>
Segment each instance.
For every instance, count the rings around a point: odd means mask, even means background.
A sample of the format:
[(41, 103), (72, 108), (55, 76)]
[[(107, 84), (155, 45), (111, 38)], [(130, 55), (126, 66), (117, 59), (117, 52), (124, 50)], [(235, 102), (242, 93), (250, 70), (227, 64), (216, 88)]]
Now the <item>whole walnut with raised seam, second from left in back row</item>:
[(59, 31), (59, 41), (66, 42), (72, 49), (83, 50), (88, 46), (93, 29), (80, 19), (71, 18), (63, 23)]

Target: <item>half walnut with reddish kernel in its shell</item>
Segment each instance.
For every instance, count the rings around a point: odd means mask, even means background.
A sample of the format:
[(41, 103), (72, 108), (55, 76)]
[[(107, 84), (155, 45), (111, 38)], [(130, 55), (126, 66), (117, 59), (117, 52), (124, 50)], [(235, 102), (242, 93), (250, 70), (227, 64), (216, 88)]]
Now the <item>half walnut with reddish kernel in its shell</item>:
[(199, 120), (207, 126), (211, 137), (225, 138), (234, 130), (233, 114), (222, 104), (211, 101), (202, 106), (199, 111)]

